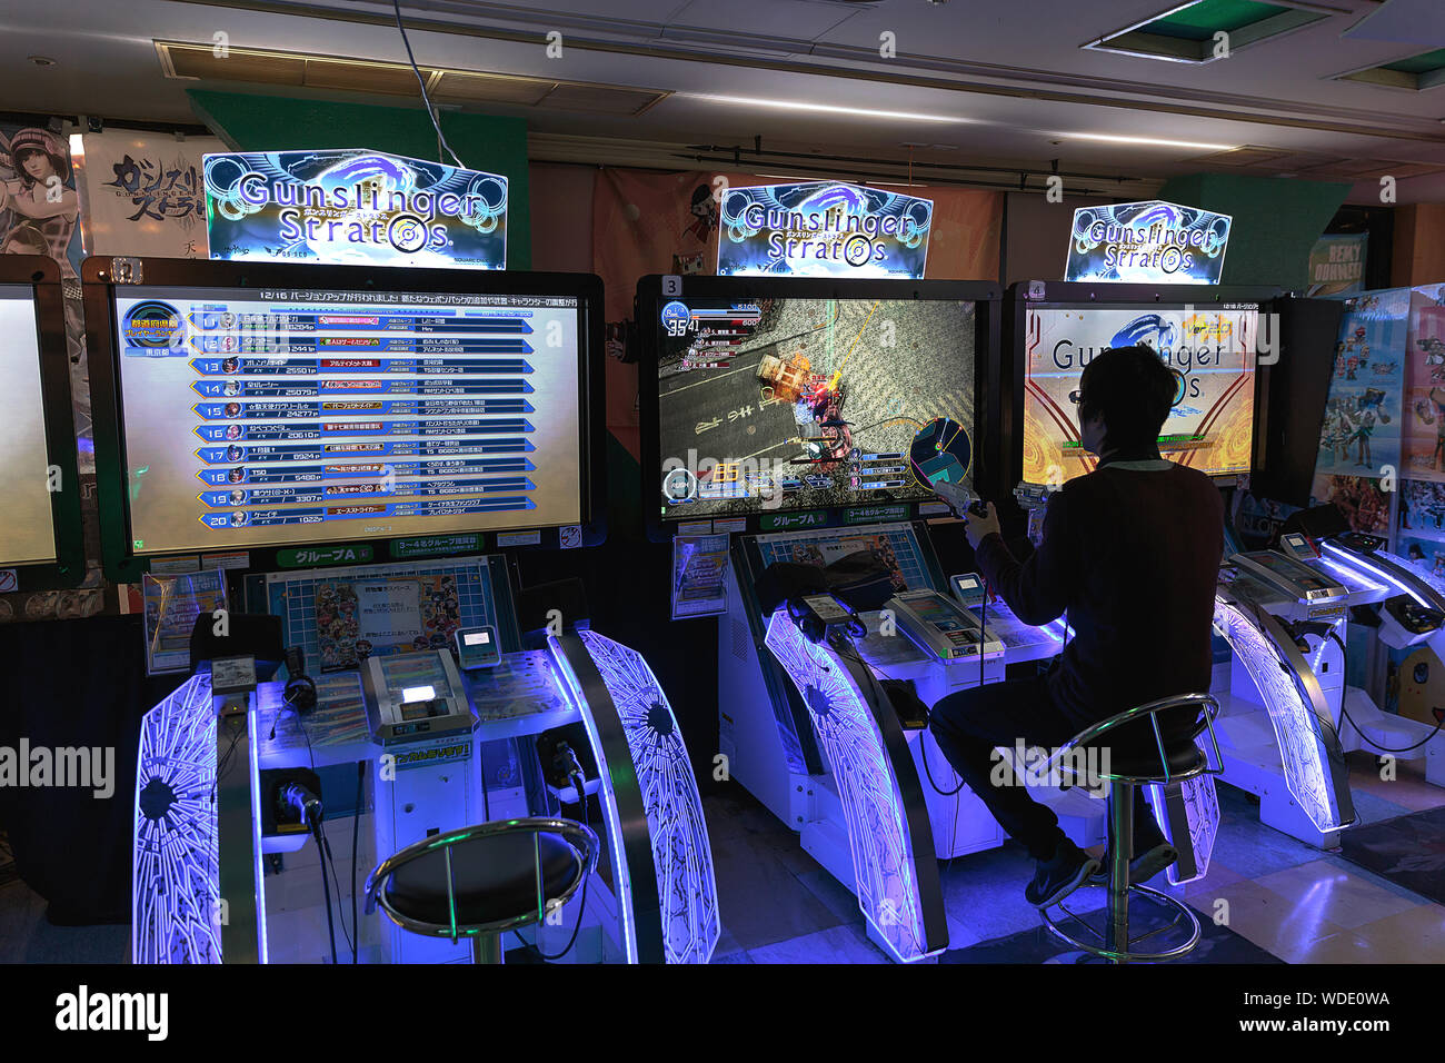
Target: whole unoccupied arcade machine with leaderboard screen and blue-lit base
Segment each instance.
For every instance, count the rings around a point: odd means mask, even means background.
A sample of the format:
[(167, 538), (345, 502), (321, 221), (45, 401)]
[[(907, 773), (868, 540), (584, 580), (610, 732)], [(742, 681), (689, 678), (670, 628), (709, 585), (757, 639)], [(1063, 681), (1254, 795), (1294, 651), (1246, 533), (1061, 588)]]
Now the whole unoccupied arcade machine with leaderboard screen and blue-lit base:
[(173, 594), (194, 674), (143, 725), (134, 962), (468, 962), (358, 914), (358, 879), (532, 814), (603, 853), (504, 947), (707, 962), (711, 852), (666, 696), (575, 596), (513, 579), (516, 551), (604, 537), (601, 282), (165, 259), (84, 279), (107, 567), (221, 580), (188, 616)]

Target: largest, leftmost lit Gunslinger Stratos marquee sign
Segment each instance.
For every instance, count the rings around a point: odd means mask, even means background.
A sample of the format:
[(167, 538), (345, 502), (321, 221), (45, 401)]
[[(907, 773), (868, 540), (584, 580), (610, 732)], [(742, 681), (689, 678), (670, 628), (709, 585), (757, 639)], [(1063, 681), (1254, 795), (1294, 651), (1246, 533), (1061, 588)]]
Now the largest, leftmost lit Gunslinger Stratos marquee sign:
[(507, 268), (507, 178), (360, 148), (205, 156), (212, 259)]

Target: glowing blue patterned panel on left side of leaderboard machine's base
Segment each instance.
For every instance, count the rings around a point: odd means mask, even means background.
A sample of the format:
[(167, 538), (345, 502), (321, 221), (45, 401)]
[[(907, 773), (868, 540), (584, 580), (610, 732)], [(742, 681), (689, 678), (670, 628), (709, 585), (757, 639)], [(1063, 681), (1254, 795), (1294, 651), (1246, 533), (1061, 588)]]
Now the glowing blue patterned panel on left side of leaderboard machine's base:
[(131, 963), (220, 963), (215, 710), (192, 675), (140, 725)]

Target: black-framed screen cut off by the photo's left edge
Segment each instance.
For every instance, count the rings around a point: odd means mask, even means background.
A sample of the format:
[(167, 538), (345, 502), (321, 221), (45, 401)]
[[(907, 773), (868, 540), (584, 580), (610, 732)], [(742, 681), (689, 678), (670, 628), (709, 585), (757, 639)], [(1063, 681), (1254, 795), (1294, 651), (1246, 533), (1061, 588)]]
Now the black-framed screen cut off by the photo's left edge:
[(85, 577), (71, 367), (59, 266), (0, 256), (0, 593), (75, 587)]

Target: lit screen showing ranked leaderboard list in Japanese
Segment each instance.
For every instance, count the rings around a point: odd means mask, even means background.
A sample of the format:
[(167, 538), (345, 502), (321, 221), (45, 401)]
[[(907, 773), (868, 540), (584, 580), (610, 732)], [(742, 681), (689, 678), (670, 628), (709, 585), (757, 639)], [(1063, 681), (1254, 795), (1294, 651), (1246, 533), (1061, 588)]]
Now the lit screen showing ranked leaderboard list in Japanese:
[(127, 286), (136, 554), (581, 519), (575, 296)]

